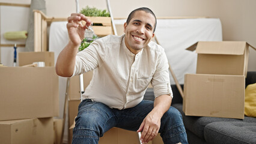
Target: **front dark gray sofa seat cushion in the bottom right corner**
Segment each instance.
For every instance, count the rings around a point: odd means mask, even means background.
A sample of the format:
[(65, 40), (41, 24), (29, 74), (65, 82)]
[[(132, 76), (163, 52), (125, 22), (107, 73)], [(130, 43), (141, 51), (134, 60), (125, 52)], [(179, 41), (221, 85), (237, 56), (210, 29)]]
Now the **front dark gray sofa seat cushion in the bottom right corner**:
[(256, 143), (256, 123), (212, 122), (204, 128), (204, 137), (207, 143)]

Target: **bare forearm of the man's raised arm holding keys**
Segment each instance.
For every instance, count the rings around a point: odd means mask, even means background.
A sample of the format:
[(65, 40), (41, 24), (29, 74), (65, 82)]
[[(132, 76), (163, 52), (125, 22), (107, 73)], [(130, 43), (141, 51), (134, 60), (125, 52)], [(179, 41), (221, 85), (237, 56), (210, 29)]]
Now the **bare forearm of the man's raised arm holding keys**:
[(55, 69), (56, 73), (62, 77), (70, 77), (73, 74), (76, 54), (78, 53), (78, 47), (72, 43), (68, 43), (67, 46), (59, 53), (56, 61)]

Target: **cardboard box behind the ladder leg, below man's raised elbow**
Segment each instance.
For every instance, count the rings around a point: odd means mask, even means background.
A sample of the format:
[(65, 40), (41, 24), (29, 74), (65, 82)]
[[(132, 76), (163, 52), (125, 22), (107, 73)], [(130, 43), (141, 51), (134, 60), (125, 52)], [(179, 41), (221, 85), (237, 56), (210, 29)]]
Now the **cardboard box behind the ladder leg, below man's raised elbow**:
[[(93, 77), (93, 71), (84, 73), (84, 90), (90, 84)], [(70, 78), (69, 88), (67, 90), (69, 100), (80, 100), (80, 82), (79, 76), (73, 76)]]

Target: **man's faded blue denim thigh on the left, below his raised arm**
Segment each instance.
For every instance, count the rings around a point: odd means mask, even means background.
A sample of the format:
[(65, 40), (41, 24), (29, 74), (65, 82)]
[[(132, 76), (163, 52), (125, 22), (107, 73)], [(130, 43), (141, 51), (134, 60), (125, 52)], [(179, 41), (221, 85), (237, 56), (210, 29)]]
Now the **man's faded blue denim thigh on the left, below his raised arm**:
[(116, 125), (115, 115), (103, 103), (86, 99), (79, 104), (78, 116), (75, 119), (74, 130), (93, 130), (103, 136), (103, 133)]

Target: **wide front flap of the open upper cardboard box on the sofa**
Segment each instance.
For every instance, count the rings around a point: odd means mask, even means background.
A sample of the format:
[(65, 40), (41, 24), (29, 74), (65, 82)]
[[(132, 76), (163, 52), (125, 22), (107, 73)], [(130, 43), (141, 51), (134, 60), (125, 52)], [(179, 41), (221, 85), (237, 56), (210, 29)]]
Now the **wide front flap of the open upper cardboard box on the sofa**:
[(217, 55), (243, 55), (245, 41), (200, 41), (197, 44), (197, 53)]

